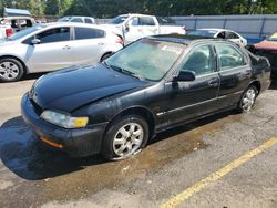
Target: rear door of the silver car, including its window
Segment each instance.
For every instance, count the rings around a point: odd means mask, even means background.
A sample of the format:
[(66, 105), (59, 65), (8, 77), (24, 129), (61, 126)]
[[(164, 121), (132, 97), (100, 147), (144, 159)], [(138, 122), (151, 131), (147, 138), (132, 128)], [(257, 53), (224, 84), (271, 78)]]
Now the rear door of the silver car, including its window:
[(96, 63), (107, 46), (105, 31), (94, 28), (74, 27), (74, 63)]

